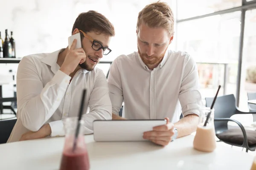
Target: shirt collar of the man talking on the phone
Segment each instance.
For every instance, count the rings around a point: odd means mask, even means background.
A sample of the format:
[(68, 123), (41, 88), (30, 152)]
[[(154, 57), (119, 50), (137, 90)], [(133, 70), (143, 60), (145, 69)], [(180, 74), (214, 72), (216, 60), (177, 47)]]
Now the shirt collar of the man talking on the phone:
[[(58, 54), (60, 54), (62, 51), (64, 51), (65, 48), (61, 48), (58, 51), (54, 51), (44, 57), (41, 62), (44, 62), (45, 64), (51, 66), (51, 71), (56, 74), (56, 72), (60, 69), (60, 66), (57, 64)], [(88, 70), (80, 69), (82, 73), (88, 73)]]

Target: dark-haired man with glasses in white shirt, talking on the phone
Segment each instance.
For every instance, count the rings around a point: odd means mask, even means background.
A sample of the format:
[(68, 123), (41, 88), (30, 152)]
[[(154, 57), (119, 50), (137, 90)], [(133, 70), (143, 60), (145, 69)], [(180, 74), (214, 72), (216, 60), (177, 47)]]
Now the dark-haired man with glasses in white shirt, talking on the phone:
[(17, 122), (8, 142), (63, 136), (63, 121), (78, 116), (84, 88), (84, 133), (93, 133), (93, 120), (112, 118), (107, 79), (95, 65), (111, 52), (114, 27), (102, 14), (88, 11), (76, 18), (72, 34), (77, 33), (82, 48), (75, 49), (74, 40), (70, 49), (32, 54), (20, 61)]

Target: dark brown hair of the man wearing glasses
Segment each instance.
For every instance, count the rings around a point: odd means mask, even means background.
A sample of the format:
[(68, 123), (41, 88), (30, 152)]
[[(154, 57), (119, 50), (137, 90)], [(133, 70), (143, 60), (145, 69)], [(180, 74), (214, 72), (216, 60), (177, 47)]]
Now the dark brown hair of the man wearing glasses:
[(72, 34), (76, 28), (85, 33), (95, 31), (99, 34), (103, 33), (108, 34), (111, 37), (115, 36), (115, 29), (112, 23), (104, 15), (96, 11), (87, 11), (79, 14), (73, 25)]

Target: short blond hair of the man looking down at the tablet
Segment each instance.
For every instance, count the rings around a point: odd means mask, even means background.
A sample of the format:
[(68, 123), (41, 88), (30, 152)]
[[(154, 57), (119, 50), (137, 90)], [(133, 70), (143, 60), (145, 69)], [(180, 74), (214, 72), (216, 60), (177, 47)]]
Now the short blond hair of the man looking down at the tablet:
[(141, 23), (146, 24), (151, 28), (165, 28), (170, 37), (174, 34), (174, 17), (172, 9), (167, 3), (156, 2), (151, 3), (139, 12), (137, 20), (137, 29)]

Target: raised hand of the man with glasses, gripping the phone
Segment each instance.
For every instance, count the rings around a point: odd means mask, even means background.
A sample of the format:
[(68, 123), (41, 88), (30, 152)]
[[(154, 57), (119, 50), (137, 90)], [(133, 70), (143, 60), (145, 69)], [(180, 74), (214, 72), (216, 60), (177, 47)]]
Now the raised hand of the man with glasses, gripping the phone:
[[(78, 33), (79, 34), (79, 33)], [(80, 36), (80, 34), (79, 34)], [(78, 40), (74, 39), (70, 45), (69, 51), (64, 59), (63, 64), (61, 65), (60, 71), (64, 72), (67, 75), (70, 75), (75, 71), (77, 65), (83, 63), (86, 59), (86, 55), (83, 48), (76, 48)], [(81, 39), (80, 39), (81, 44)]]

